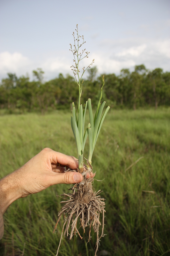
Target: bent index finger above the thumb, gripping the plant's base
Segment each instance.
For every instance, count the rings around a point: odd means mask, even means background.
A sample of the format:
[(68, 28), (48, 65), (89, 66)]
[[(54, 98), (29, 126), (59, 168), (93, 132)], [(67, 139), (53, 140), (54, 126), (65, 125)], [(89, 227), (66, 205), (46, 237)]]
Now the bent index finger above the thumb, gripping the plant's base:
[(54, 150), (52, 151), (53, 152), (50, 156), (51, 163), (59, 163), (62, 165), (66, 165), (70, 167), (72, 170), (76, 170), (78, 168), (78, 162), (72, 156), (67, 156), (63, 153), (56, 152)]

